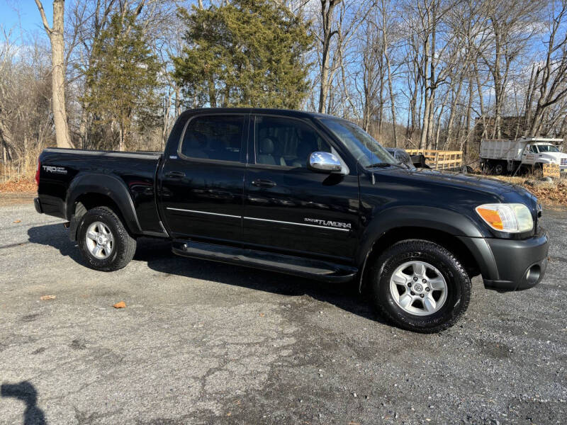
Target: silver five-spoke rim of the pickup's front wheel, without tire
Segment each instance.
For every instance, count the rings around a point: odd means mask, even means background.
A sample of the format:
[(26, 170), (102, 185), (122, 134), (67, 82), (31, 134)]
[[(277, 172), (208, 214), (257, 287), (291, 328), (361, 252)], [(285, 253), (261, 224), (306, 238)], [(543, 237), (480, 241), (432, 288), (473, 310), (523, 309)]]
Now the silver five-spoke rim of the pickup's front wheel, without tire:
[(403, 311), (429, 316), (447, 301), (447, 282), (437, 268), (424, 261), (408, 261), (395, 269), (390, 293)]

